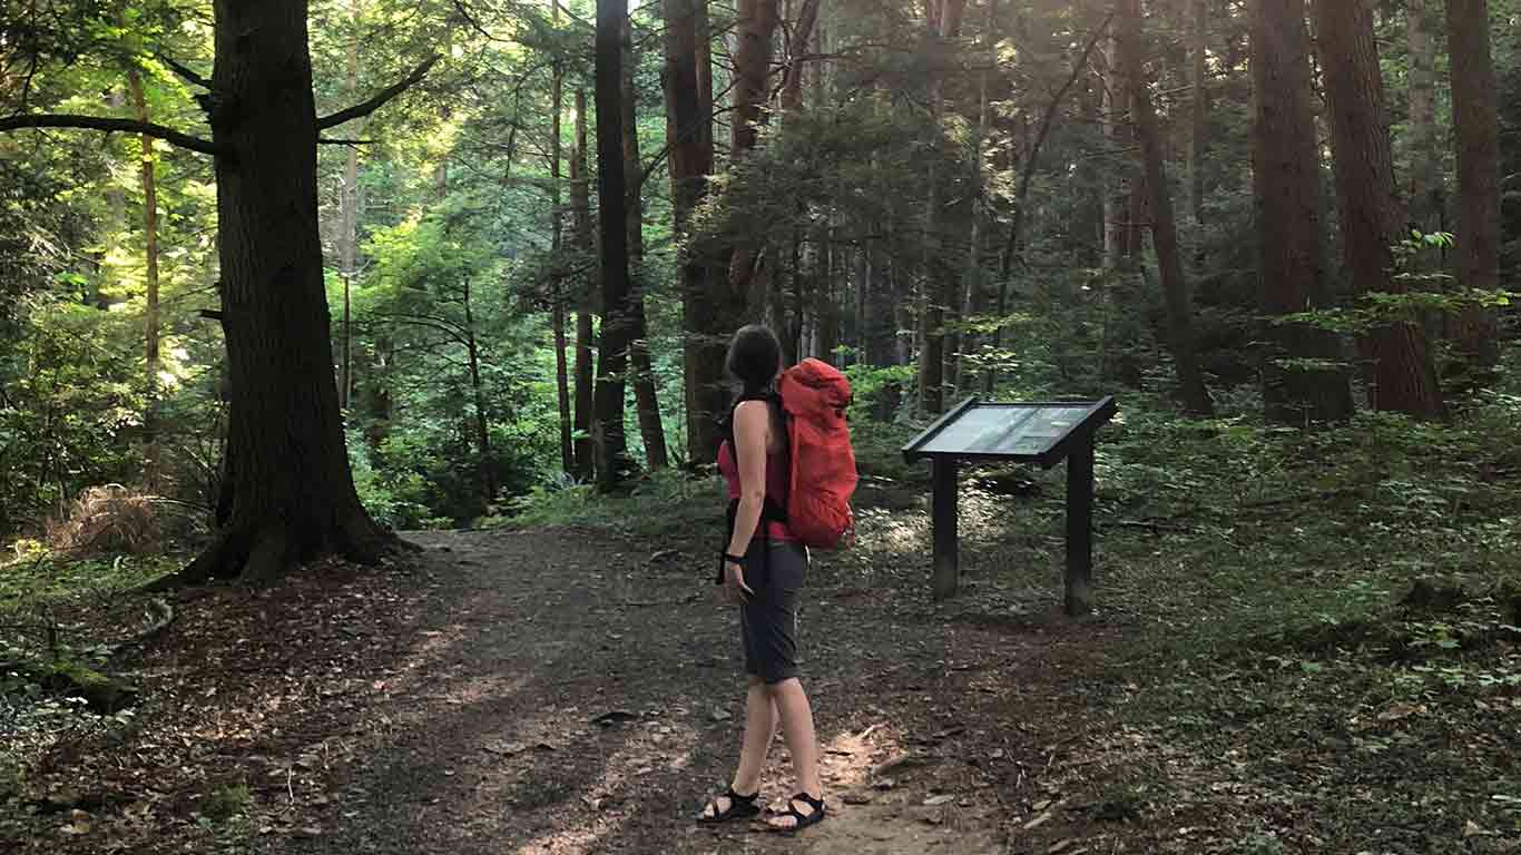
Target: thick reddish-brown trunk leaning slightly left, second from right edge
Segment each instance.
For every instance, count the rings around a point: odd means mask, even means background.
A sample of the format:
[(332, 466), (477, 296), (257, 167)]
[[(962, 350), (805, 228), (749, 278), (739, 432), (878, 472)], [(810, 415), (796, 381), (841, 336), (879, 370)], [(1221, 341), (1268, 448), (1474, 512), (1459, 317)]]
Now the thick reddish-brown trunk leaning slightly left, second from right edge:
[[(1389, 108), (1373, 41), (1372, 0), (1316, 0), (1316, 30), (1331, 114), (1331, 148), (1346, 266), (1358, 295), (1404, 292), (1393, 278), (1392, 246), (1404, 234), (1389, 154)], [(1425, 332), (1413, 319), (1373, 329), (1364, 341), (1373, 362), (1378, 409), (1424, 418), (1445, 414)]]

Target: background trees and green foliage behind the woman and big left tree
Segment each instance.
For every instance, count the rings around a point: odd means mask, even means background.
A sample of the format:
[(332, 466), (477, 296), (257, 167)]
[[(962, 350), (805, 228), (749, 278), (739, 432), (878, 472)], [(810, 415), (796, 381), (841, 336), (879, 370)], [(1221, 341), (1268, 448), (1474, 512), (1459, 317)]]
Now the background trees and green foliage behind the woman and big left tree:
[[(628, 12), (599, 90), (587, 3), (312, 2), (318, 116), (397, 96), (318, 145), (357, 494), (388, 526), (458, 526), (707, 464), (722, 339), (751, 319), (846, 365), (884, 449), (973, 393), (1448, 417), (1515, 335), (1518, 9), (1348, 8), (668, 0)], [(1465, 21), (1491, 68), (1453, 50)], [(1331, 40), (1364, 24), (1381, 85), (1354, 93)], [(213, 160), (120, 129), (214, 116), (213, 27), (178, 0), (5, 5), (0, 532), (58, 537), (111, 484), (187, 539), (233, 502)], [(1498, 110), (1477, 186), (1465, 91)], [(636, 300), (608, 313), (625, 257)], [(598, 453), (624, 434), (627, 458)]]

